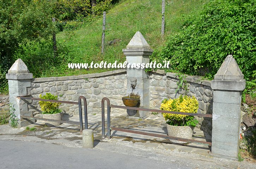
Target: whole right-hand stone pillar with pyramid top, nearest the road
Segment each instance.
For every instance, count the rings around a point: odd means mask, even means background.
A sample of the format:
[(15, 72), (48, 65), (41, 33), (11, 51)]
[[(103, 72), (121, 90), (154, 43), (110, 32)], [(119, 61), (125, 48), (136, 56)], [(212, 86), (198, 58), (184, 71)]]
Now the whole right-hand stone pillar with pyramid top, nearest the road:
[(240, 107), (245, 88), (244, 75), (228, 55), (214, 76), (212, 153), (237, 159), (239, 152)]

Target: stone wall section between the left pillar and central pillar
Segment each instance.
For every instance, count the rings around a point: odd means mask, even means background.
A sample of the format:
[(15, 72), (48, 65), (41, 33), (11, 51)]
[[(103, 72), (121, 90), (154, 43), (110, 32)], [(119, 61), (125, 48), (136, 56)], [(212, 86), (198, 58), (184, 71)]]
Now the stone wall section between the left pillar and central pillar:
[[(123, 105), (121, 98), (126, 96), (126, 81), (125, 69), (79, 76), (36, 78), (31, 83), (31, 95), (39, 98), (40, 94), (52, 93), (63, 101), (78, 101), (78, 97), (83, 95), (87, 99), (88, 114), (101, 113), (101, 100), (104, 97), (109, 98), (113, 105)], [(79, 114), (78, 105), (61, 104), (60, 108), (66, 114)], [(29, 109), (36, 117), (41, 116), (38, 101), (33, 100)], [(111, 112), (126, 111), (113, 108)]]

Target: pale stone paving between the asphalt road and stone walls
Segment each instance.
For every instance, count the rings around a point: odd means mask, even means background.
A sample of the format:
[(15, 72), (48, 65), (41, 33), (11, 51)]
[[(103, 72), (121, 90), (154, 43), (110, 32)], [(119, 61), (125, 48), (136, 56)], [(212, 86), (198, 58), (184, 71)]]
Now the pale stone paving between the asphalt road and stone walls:
[[(79, 121), (79, 116), (64, 117), (64, 120)], [(105, 117), (107, 120), (107, 117)], [(105, 123), (107, 126), (107, 123)], [(129, 128), (138, 131), (147, 131), (166, 134), (165, 120), (157, 115), (151, 115), (145, 120), (128, 119), (126, 114), (111, 114), (111, 126)], [(43, 121), (29, 125), (35, 131), (26, 130), (26, 127), (13, 129), (8, 125), (0, 125), (0, 140), (24, 140), (30, 142), (44, 142), (64, 145), (68, 147), (82, 147), (82, 135), (79, 125), (61, 124), (47, 127)], [(210, 147), (195, 143), (176, 144), (168, 139), (142, 136), (133, 133), (112, 131), (111, 139), (102, 139), (101, 114), (88, 114), (88, 127), (94, 130), (94, 149), (102, 151), (132, 154), (133, 156), (148, 157), (162, 162), (175, 162), (189, 168), (239, 168), (254, 169), (255, 163), (238, 162), (213, 157)], [(105, 129), (107, 132), (107, 128)], [(210, 141), (210, 136), (199, 129), (194, 129), (195, 140)]]

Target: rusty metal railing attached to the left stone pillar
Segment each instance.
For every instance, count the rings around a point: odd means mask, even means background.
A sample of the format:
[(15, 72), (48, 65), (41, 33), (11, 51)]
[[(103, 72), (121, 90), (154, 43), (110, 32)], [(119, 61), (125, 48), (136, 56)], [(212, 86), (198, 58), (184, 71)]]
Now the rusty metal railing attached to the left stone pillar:
[(87, 101), (86, 101), (86, 98), (84, 96), (79, 96), (78, 102), (74, 102), (74, 101), (61, 101), (61, 100), (48, 100), (48, 99), (37, 99), (37, 98), (29, 98), (29, 97), (24, 97), (24, 96), (20, 96), (18, 98), (19, 99), (24, 99), (24, 100), (49, 101), (49, 102), (56, 102), (56, 103), (78, 105), (78, 108), (79, 108), (79, 122), (78, 121), (70, 121), (70, 120), (45, 119), (45, 118), (30, 117), (30, 116), (25, 116), (25, 115), (21, 115), (21, 118), (23, 118), (23, 119), (44, 120), (44, 121), (53, 121), (53, 122), (59, 122), (59, 123), (80, 125), (80, 133), (81, 134), (83, 132), (83, 116), (82, 116), (82, 99), (83, 99), (83, 101), (84, 101), (84, 125), (85, 125), (85, 129), (88, 129)]

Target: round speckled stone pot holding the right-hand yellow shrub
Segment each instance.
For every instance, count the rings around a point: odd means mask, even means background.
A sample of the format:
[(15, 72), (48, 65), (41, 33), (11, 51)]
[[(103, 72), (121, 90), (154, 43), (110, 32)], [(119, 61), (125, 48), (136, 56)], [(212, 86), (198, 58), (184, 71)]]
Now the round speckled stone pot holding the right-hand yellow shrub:
[[(190, 126), (172, 126), (166, 124), (168, 136), (192, 139), (193, 131)], [(169, 139), (173, 143), (187, 143), (178, 140)]]

